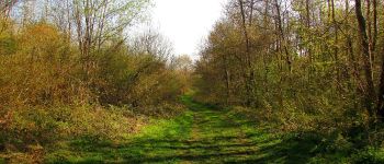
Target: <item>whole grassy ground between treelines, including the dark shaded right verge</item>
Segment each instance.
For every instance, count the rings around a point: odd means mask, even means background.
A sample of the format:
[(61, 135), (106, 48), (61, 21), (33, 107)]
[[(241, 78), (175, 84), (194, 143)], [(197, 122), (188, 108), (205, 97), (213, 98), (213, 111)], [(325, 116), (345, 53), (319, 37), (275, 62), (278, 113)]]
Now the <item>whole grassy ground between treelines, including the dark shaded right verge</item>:
[[(316, 131), (282, 132), (251, 113), (182, 97), (188, 110), (151, 119), (120, 140), (92, 137), (56, 143), (45, 163), (383, 163), (384, 151), (353, 149), (341, 137)], [(345, 143), (345, 144), (342, 144)], [(0, 160), (1, 163), (1, 160)]]

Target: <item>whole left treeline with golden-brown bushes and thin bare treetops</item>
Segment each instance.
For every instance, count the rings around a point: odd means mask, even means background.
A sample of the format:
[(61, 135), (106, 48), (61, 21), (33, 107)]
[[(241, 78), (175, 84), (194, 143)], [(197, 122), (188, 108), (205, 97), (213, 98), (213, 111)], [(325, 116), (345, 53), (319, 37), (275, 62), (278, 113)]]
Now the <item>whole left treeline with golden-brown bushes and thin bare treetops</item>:
[[(147, 0), (0, 2), (0, 145), (121, 138), (138, 116), (181, 113), (189, 60), (154, 31)], [(38, 157), (37, 157), (38, 159)]]

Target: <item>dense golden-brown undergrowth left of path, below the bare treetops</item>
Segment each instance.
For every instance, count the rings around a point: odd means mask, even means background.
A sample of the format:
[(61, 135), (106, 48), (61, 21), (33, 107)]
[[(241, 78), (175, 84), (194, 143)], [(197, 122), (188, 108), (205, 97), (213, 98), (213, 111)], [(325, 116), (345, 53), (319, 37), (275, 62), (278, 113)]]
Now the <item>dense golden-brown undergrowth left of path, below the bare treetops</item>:
[(38, 163), (61, 142), (118, 141), (184, 112), (187, 73), (157, 34), (109, 38), (84, 55), (47, 22), (0, 19), (0, 159)]

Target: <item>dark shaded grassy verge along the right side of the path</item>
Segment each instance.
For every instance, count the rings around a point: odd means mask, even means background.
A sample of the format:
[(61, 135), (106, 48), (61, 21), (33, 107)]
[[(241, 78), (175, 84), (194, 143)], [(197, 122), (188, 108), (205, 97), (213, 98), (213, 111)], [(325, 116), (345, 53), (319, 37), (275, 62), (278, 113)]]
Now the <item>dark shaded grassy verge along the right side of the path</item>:
[[(241, 162), (248, 163), (384, 163), (384, 149), (358, 148), (340, 133), (318, 131), (284, 132), (279, 126), (252, 120), (250, 112), (230, 110), (228, 117), (239, 125), (258, 151)], [(357, 140), (358, 142), (361, 140)]]

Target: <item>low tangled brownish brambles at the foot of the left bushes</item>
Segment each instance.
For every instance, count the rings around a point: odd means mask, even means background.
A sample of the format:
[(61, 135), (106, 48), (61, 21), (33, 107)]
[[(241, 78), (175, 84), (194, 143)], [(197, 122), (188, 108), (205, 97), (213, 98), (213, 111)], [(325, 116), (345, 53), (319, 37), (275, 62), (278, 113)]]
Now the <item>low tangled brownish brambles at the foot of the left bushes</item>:
[(82, 137), (116, 140), (133, 132), (139, 121), (129, 118), (126, 109), (94, 106), (20, 108), (1, 128), (3, 144), (25, 150), (30, 144), (47, 145), (58, 140)]

